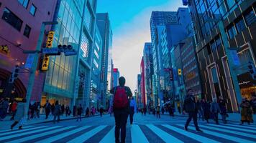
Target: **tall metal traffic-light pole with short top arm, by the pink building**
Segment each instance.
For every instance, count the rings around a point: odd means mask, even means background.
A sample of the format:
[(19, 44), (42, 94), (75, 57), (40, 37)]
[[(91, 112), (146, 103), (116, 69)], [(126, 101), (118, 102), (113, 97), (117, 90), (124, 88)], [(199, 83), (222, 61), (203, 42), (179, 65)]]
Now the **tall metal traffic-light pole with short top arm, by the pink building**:
[[(38, 41), (37, 41), (36, 51), (41, 50), (42, 40), (43, 40), (44, 35), (45, 35), (45, 26), (46, 25), (53, 25), (53, 24), (58, 24), (58, 22), (54, 22), (54, 21), (42, 22), (42, 26), (41, 26), (41, 29), (40, 29), (40, 36), (38, 37)], [(34, 87), (35, 71), (37, 70), (38, 58), (39, 58), (39, 52), (35, 52), (35, 56), (34, 56), (34, 59), (33, 59), (33, 62), (32, 62), (32, 67), (31, 67), (30, 74), (29, 74), (29, 82), (28, 82), (28, 85), (27, 85), (27, 94), (26, 94), (27, 103), (26, 103), (26, 108), (25, 108), (25, 114), (26, 115), (27, 115), (27, 112), (29, 110), (29, 102), (30, 102), (30, 99), (31, 99), (32, 89)]]

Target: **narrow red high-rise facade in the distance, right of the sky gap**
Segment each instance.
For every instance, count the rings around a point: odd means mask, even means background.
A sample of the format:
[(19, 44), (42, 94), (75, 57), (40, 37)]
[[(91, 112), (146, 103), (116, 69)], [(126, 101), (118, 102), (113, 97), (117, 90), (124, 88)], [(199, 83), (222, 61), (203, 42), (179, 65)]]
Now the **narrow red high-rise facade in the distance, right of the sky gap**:
[(140, 75), (141, 75), (141, 81), (140, 81), (140, 92), (141, 92), (141, 99), (142, 99), (142, 106), (147, 106), (147, 96), (145, 94), (145, 66), (144, 66), (144, 59), (142, 56), (142, 60), (140, 61)]

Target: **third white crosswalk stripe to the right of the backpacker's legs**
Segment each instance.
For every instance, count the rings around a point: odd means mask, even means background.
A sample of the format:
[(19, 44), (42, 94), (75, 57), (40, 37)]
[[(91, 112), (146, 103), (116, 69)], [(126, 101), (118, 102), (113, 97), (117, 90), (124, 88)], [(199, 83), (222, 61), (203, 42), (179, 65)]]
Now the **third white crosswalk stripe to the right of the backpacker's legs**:
[(186, 137), (189, 137), (189, 138), (192, 138), (192, 139), (195, 139), (197, 140), (198, 142), (208, 142), (208, 143), (217, 143), (217, 141), (213, 140), (213, 139), (209, 139), (207, 137), (203, 137), (203, 136), (200, 136), (198, 134), (193, 134), (191, 132), (184, 132), (183, 129), (179, 129), (177, 127), (173, 127), (173, 126), (170, 126), (168, 124), (163, 124), (162, 125), (163, 127), (166, 127), (168, 129), (171, 129), (175, 132), (178, 132), (179, 134), (183, 134), (185, 135)]

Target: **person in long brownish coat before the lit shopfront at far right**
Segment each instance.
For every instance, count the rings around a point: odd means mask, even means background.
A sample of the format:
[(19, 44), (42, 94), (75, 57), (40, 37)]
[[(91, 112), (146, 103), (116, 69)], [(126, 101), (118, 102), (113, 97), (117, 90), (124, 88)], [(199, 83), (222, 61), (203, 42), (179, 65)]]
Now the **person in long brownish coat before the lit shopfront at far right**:
[(241, 110), (241, 125), (244, 124), (244, 122), (247, 122), (250, 124), (250, 122), (253, 122), (252, 119), (252, 107), (250, 102), (247, 100), (247, 98), (242, 98), (242, 103), (240, 104)]

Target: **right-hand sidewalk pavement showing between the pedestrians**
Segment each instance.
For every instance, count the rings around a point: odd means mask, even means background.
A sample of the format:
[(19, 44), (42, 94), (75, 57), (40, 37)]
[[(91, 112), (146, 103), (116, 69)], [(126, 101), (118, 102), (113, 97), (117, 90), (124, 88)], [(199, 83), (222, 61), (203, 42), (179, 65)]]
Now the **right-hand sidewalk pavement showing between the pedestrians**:
[[(229, 122), (241, 122), (241, 114), (239, 113), (228, 113), (229, 117), (227, 118), (227, 121)], [(169, 115), (165, 112), (165, 115)], [(178, 117), (188, 117), (188, 114), (179, 114), (178, 112), (174, 113), (174, 116), (178, 116)], [(251, 124), (256, 124), (256, 114), (252, 114), (252, 118), (254, 120), (253, 123)], [(221, 120), (221, 115), (219, 114), (219, 120)], [(247, 124), (247, 123), (244, 123)]]

